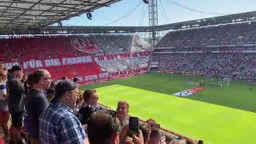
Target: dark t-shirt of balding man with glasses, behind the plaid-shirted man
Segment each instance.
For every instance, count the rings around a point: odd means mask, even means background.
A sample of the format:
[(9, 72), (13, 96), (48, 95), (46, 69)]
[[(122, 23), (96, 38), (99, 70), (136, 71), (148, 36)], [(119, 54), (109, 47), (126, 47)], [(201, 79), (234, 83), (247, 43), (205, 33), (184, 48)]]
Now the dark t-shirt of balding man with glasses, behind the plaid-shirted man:
[(48, 99), (39, 90), (30, 90), (25, 98), (26, 113), (30, 120), (31, 135), (33, 138), (39, 138), (39, 126), (38, 119), (42, 110), (45, 110), (49, 106)]

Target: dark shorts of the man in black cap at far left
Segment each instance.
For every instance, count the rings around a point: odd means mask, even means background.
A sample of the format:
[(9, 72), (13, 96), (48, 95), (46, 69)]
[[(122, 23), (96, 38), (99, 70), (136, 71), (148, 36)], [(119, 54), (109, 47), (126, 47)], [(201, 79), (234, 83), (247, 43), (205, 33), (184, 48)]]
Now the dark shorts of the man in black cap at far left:
[(11, 115), (11, 124), (17, 128), (22, 127), (25, 112), (24, 111), (11, 112), (10, 115)]

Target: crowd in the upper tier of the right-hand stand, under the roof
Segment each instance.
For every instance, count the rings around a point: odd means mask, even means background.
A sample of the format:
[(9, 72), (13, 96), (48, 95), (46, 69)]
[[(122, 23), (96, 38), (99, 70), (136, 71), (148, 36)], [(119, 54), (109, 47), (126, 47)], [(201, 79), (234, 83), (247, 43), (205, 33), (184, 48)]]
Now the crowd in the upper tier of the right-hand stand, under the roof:
[(255, 44), (255, 23), (208, 26), (166, 34), (156, 47), (223, 46)]

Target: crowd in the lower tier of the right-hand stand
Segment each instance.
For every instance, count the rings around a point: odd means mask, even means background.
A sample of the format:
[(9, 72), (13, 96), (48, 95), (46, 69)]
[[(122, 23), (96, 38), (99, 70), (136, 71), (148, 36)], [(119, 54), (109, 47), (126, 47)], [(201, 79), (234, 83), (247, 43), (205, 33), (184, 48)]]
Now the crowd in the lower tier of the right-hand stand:
[(242, 77), (256, 76), (256, 54), (156, 54), (160, 70)]

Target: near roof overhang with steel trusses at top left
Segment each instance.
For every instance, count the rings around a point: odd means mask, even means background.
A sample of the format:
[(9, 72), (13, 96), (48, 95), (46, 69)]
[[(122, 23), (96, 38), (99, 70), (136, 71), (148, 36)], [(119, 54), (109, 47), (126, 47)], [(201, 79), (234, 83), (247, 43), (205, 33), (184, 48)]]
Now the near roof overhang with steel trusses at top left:
[(0, 30), (50, 26), (120, 0), (0, 0)]

